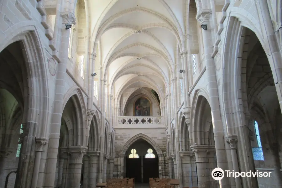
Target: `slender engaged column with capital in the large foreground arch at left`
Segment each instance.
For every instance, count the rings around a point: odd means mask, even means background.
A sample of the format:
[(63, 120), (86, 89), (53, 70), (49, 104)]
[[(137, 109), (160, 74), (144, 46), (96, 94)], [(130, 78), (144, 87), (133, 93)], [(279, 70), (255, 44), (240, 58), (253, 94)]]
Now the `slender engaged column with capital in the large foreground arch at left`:
[(39, 167), (40, 167), (40, 160), (42, 154), (42, 147), (43, 145), (47, 144), (47, 138), (36, 138), (36, 154), (35, 154), (35, 161), (34, 161), (34, 169), (31, 181), (31, 188), (37, 187), (37, 180), (39, 175)]

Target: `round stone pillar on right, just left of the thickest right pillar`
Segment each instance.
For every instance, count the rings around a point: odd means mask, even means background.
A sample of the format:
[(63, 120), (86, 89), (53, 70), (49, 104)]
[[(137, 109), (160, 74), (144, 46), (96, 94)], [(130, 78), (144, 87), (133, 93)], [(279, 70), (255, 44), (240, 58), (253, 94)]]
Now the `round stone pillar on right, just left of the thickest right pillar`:
[[(182, 168), (182, 186), (183, 187), (194, 187), (192, 181), (192, 160), (194, 156), (193, 151), (180, 151), (181, 157), (181, 168)], [(195, 162), (195, 160), (194, 160)]]

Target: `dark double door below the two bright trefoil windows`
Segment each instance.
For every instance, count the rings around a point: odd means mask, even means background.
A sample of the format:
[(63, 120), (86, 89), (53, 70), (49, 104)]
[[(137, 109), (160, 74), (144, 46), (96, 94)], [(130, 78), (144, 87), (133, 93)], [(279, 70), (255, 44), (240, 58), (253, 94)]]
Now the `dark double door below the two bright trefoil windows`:
[(143, 160), (143, 183), (148, 183), (149, 178), (159, 177), (158, 158), (127, 158), (126, 177), (134, 178), (135, 182), (142, 182), (142, 160)]

